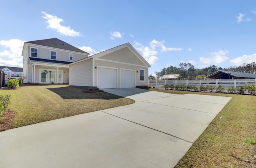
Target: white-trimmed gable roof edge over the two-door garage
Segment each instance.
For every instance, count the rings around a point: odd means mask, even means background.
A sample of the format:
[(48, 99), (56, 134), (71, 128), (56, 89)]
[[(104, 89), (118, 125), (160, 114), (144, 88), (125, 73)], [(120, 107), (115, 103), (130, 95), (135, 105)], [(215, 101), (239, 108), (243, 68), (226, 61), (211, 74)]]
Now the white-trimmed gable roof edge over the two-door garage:
[(140, 53), (138, 53), (138, 52), (133, 48), (133, 46), (132, 46), (130, 43), (125, 43), (125, 44), (122, 44), (122, 45), (120, 45), (120, 46), (116, 46), (116, 47), (114, 47), (114, 48), (110, 48), (110, 49), (108, 49), (108, 50), (99, 52), (99, 53), (94, 54), (94, 55), (92, 55), (92, 56), (88, 56), (88, 57), (83, 58), (83, 59), (81, 59), (81, 60), (78, 60), (78, 61), (76, 61), (76, 62), (72, 62), (70, 65), (76, 64), (76, 63), (78, 63), (78, 62), (82, 62), (82, 61), (85, 61), (85, 60), (88, 60), (88, 59), (91, 59), (91, 58), (99, 58), (99, 57), (104, 56), (104, 55), (106, 55), (106, 54), (109, 54), (109, 53), (111, 53), (111, 52), (115, 52), (115, 51), (117, 51), (117, 50), (120, 50), (120, 49), (122, 49), (122, 48), (124, 48), (124, 47), (128, 47), (128, 48), (144, 63), (145, 66), (151, 67), (151, 65), (140, 55)]

